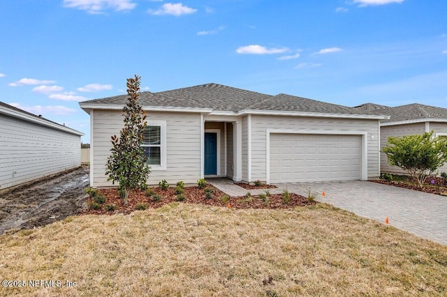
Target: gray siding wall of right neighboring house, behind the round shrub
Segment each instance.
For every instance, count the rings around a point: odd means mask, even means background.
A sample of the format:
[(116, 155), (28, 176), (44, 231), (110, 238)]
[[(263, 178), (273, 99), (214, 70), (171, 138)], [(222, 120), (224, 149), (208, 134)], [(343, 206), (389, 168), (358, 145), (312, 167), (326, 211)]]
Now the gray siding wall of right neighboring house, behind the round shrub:
[[(425, 123), (411, 123), (405, 125), (386, 125), (381, 127), (380, 146), (388, 144), (388, 137), (402, 137), (406, 135), (423, 134), (425, 132)], [(380, 153), (381, 172), (390, 174), (406, 174), (397, 166), (388, 164), (388, 158), (385, 153)]]

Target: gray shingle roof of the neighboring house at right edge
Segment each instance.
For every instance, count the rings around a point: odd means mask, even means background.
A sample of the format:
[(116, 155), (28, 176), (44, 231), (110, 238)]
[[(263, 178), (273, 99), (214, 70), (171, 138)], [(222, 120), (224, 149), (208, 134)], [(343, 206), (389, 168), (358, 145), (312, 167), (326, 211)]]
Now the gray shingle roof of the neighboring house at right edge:
[(389, 115), (390, 119), (381, 121), (383, 125), (418, 123), (425, 121), (447, 121), (446, 108), (423, 105), (419, 103), (401, 105), (397, 107), (388, 107), (384, 105), (374, 105), (373, 103), (366, 103), (364, 105), (353, 108), (363, 108), (369, 110), (376, 108), (376, 111)]

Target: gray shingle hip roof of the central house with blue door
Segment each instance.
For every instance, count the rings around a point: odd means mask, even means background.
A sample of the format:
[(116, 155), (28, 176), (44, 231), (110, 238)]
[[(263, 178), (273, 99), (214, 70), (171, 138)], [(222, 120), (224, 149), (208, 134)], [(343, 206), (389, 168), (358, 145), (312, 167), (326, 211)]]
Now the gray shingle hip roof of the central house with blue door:
[[(127, 102), (127, 95), (100, 98), (80, 102), (82, 109), (122, 108)], [(221, 84), (202, 84), (182, 89), (158, 93), (141, 92), (140, 105), (145, 109), (152, 107), (175, 107), (177, 109), (203, 109), (205, 112), (230, 112), (234, 114), (280, 112), (309, 114), (349, 115), (386, 119), (376, 112), (353, 109), (342, 105), (311, 100), (286, 94), (272, 96), (254, 91), (223, 86)], [(157, 110), (157, 109), (155, 109)]]

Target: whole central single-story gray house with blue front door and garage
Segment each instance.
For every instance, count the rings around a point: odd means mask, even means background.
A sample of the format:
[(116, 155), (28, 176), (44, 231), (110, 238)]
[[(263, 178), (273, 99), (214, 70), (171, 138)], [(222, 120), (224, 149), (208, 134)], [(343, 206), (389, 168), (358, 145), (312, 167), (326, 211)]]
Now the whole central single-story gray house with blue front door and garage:
[[(105, 176), (110, 137), (123, 127), (127, 96), (80, 102), (90, 115), (90, 185)], [(141, 92), (147, 116), (148, 184), (233, 181), (293, 183), (367, 180), (380, 174), (375, 112), (221, 84)]]

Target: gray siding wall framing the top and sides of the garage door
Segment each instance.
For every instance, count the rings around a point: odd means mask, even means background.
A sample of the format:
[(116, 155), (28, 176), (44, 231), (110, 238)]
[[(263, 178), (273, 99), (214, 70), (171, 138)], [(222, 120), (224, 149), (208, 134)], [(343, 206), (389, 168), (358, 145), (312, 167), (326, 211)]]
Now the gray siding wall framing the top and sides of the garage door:
[[(297, 116), (251, 116), (251, 180), (266, 181), (266, 130), (359, 130), (368, 133), (367, 175), (379, 175), (379, 121)], [(374, 138), (371, 137), (374, 135)]]

